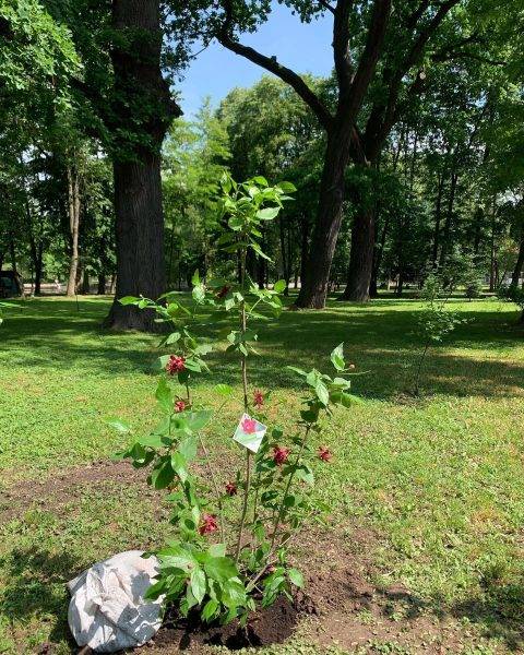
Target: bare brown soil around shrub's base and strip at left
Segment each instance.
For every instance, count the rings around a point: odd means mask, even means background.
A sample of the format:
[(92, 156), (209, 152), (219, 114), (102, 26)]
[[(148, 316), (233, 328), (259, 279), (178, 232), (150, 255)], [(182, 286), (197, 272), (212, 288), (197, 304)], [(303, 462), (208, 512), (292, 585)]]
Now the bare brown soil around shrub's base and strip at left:
[[(35, 505), (60, 508), (86, 487), (108, 483), (140, 485), (144, 493), (158, 496), (147, 488), (143, 471), (134, 471), (126, 462), (95, 462), (43, 480), (9, 487), (0, 504), (0, 521), (20, 516)], [(466, 621), (465, 627), (462, 619), (466, 612), (445, 612), (401, 584), (383, 587), (373, 583), (380, 573), (373, 553), (380, 544), (380, 535), (350, 525), (311, 532), (303, 536), (297, 549), (298, 565), (306, 572), (307, 586), (303, 593), (298, 593), (294, 604), (281, 599), (252, 617), (246, 630), (235, 624), (203, 630), (194, 622), (168, 615), (155, 640), (136, 652), (203, 655), (210, 653), (210, 645), (238, 650), (289, 641), (291, 646), (286, 654), (295, 652), (294, 643), (317, 644), (319, 653), (329, 646), (357, 654), (476, 652), (465, 650), (481, 643), (474, 618)], [(71, 575), (75, 573), (71, 571)], [(67, 607), (60, 621), (66, 614)], [(514, 651), (522, 652), (519, 647)], [(39, 652), (51, 655), (53, 644), (43, 644)], [(73, 644), (71, 652), (78, 652)]]

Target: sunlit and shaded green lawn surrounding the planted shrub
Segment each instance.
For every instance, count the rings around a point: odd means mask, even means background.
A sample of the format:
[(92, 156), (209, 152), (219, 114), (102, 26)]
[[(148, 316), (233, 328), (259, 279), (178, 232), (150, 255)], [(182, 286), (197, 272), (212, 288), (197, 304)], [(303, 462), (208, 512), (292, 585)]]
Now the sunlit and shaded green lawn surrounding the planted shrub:
[[(354, 381), (366, 402), (337, 410), (322, 436), (334, 458), (319, 466), (314, 493), (332, 507), (333, 543), (369, 534), (355, 552), (371, 562), (369, 584), (378, 593), (402, 585), (431, 620), (452, 617), (463, 638), (454, 652), (524, 652), (524, 329), (497, 300), (451, 306), (469, 321), (430, 350), (420, 397), (408, 393), (421, 308), (410, 299), (285, 311), (260, 329), (251, 381), (272, 390), (270, 416), (286, 427), (300, 391), (286, 365), (329, 371), (330, 352), (344, 342), (347, 360), (366, 372)], [(108, 418), (140, 431), (156, 418), (158, 355), (156, 337), (102, 331), (108, 307), (104, 298), (27, 300), (0, 327), (2, 654), (74, 652), (63, 583), (93, 561), (169, 534), (143, 474), (126, 478), (108, 463), (127, 443)], [(215, 384), (238, 388), (223, 350), (198, 386), (210, 405)], [(227, 466), (240, 412), (238, 394), (207, 433)], [(373, 616), (361, 619), (373, 634)], [(271, 652), (324, 652), (306, 632), (297, 640)], [(336, 652), (425, 650), (370, 640)]]

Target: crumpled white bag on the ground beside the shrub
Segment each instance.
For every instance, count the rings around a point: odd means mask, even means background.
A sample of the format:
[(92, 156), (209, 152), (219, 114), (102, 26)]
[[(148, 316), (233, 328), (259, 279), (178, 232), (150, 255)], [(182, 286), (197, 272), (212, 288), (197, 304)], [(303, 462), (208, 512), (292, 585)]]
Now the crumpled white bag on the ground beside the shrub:
[(79, 646), (115, 653), (142, 646), (162, 623), (162, 598), (144, 594), (154, 583), (158, 560), (141, 550), (120, 552), (98, 562), (68, 582), (71, 593), (68, 621)]

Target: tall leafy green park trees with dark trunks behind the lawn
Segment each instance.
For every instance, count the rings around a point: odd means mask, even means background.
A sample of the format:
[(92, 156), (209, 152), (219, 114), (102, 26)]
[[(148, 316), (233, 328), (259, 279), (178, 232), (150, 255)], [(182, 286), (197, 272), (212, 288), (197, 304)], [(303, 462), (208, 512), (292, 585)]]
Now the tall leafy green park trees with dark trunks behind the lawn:
[[(469, 293), (524, 265), (523, 16), (517, 0), (286, 1), (333, 22), (333, 74), (242, 44), (270, 2), (2, 0), (0, 263), (68, 294), (182, 288), (214, 248), (225, 169), (298, 191), (251, 257), (299, 307), (367, 300), (455, 265)], [(272, 73), (194, 120), (175, 79), (217, 39)], [(233, 55), (231, 55), (233, 56)], [(145, 318), (144, 318), (145, 317)], [(114, 305), (108, 324), (151, 327)]]

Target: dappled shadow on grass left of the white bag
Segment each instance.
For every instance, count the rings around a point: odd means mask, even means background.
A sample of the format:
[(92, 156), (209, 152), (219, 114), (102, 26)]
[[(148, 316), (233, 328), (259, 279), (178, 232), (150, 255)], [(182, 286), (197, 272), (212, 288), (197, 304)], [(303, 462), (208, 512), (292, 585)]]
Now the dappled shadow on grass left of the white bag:
[(35, 618), (49, 624), (50, 642), (67, 640), (73, 646), (66, 583), (80, 573), (80, 561), (67, 552), (16, 548), (0, 565), (8, 581), (0, 591), (0, 616), (19, 628)]

